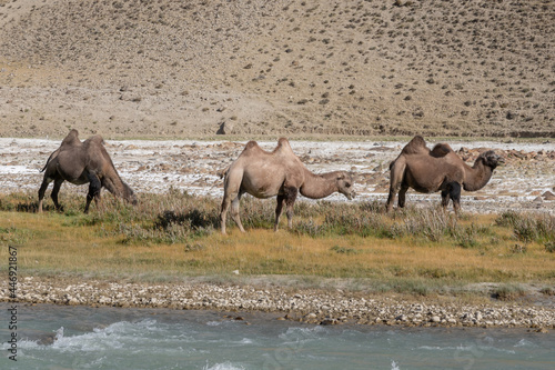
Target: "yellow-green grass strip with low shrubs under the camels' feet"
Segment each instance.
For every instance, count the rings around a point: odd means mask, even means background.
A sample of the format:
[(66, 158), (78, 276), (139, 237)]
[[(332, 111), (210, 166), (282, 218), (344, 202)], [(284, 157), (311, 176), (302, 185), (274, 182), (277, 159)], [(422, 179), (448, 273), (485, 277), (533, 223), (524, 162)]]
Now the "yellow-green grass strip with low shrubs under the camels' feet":
[[(548, 283), (555, 277), (555, 256), (545, 247), (555, 240), (548, 217), (455, 219), (435, 209), (391, 217), (377, 203), (301, 202), (294, 229), (274, 233), (273, 202), (248, 200), (242, 211), (248, 232), (232, 227), (221, 236), (218, 200), (211, 198), (174, 191), (143, 196), (137, 208), (107, 198), (88, 216), (80, 212), (81, 198), (64, 202), (64, 213), (36, 214), (32, 196), (0, 198), (0, 244), (20, 246), (22, 274), (174, 280), (238, 270), (366, 279), (367, 289), (423, 294), (484, 281)], [(522, 241), (507, 219), (543, 222), (544, 231)], [(525, 252), (514, 251), (518, 242)]]

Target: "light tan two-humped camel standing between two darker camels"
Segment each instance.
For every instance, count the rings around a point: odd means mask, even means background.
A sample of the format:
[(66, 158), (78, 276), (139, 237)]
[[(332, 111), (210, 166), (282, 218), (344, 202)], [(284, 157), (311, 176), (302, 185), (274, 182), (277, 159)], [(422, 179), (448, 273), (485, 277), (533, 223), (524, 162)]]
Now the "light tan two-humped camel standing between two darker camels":
[(355, 196), (353, 178), (349, 172), (312, 173), (295, 156), (285, 138), (278, 141), (278, 147), (272, 152), (262, 150), (255, 141), (249, 141), (239, 158), (222, 171), (221, 177), (225, 178), (220, 212), (222, 233), (225, 233), (230, 206), (232, 219), (244, 232), (239, 217), (239, 202), (245, 192), (256, 198), (278, 196), (274, 231), (278, 231), (284, 204), (287, 208), (287, 226), (292, 227), (293, 206), (299, 192), (312, 199), (322, 199), (336, 191), (347, 199)]

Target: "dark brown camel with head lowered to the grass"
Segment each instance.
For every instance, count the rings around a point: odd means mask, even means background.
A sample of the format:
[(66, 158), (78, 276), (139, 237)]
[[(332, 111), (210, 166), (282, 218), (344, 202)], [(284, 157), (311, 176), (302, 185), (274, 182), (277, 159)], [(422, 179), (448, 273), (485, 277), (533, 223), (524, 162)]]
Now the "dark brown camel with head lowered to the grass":
[(100, 189), (102, 187), (107, 188), (112, 194), (137, 204), (133, 190), (121, 180), (104, 149), (103, 142), (102, 137), (98, 134), (81, 142), (79, 132), (77, 130), (70, 131), (65, 139), (62, 140), (60, 148), (50, 154), (47, 164), (41, 170), (41, 172), (44, 171), (44, 178), (39, 190), (39, 212), (42, 212), (44, 192), (52, 181), (54, 181), (54, 188), (50, 197), (58, 210), (61, 209), (58, 203), (58, 192), (63, 181), (74, 184), (89, 183), (87, 206), (84, 207), (85, 213), (89, 212), (92, 199), (97, 204), (100, 201)]

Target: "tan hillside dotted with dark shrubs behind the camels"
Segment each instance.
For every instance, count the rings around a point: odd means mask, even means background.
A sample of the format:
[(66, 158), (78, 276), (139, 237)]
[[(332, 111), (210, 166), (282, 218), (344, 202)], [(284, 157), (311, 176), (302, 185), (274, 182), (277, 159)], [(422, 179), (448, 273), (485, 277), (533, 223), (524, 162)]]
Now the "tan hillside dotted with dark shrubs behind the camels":
[(0, 0), (0, 136), (555, 137), (549, 0)]

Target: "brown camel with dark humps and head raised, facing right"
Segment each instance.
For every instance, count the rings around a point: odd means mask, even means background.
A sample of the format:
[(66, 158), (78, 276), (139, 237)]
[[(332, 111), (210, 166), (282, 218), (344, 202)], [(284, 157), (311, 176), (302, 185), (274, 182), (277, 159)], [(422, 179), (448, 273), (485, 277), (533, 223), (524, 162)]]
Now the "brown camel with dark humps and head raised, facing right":
[(421, 136), (414, 137), (390, 164), (390, 196), (386, 210), (391, 211), (398, 192), (398, 207), (405, 206), (408, 188), (417, 192), (442, 191), (442, 206), (453, 200), (455, 212), (461, 209), (461, 187), (476, 191), (486, 186), (503, 158), (493, 150), (476, 158), (473, 167), (466, 164), (446, 143), (438, 143), (430, 150)]

